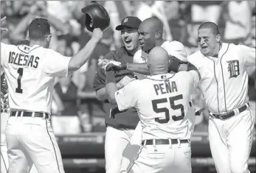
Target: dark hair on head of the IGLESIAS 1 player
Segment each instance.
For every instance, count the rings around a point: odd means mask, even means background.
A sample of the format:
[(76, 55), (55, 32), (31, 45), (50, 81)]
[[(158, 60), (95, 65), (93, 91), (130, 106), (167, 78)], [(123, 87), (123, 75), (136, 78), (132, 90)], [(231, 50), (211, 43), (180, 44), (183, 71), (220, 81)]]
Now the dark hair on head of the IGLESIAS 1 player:
[(29, 27), (29, 37), (32, 40), (40, 40), (46, 35), (50, 35), (50, 25), (45, 18), (35, 18)]

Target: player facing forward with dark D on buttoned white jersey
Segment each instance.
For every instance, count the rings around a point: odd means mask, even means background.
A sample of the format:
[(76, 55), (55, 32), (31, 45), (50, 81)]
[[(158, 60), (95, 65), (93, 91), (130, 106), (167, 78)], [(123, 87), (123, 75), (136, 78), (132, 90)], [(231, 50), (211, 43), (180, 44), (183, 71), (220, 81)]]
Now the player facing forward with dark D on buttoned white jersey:
[(221, 43), (212, 22), (198, 28), (198, 44), (200, 50), (188, 60), (201, 74), (215, 168), (218, 173), (249, 172), (255, 116), (249, 107), (246, 68), (255, 66), (255, 48)]

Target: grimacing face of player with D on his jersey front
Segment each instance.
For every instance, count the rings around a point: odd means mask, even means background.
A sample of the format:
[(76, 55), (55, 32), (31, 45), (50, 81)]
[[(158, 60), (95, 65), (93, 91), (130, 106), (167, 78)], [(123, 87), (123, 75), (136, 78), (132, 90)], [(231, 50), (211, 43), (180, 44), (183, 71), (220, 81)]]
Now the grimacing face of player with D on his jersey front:
[(198, 44), (202, 54), (206, 56), (218, 54), (218, 37), (219, 35), (212, 33), (212, 29), (198, 29)]

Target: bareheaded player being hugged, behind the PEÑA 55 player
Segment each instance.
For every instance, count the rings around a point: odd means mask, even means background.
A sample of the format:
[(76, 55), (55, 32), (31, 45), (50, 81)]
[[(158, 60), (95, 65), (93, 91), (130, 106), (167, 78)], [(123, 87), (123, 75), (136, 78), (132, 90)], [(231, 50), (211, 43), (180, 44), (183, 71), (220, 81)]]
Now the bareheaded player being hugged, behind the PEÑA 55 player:
[[(158, 18), (148, 18), (145, 21), (142, 21), (142, 24), (140, 24), (138, 32), (139, 32), (139, 43), (142, 49), (138, 50), (134, 54), (134, 63), (118, 63), (118, 62), (105, 62), (107, 63), (114, 63), (116, 66), (114, 66), (115, 71), (120, 71), (123, 69), (126, 69), (128, 71), (134, 71), (136, 72), (136, 77), (141, 79), (145, 79), (145, 74), (149, 74), (148, 70), (148, 64), (146, 63), (148, 60), (148, 52), (153, 49), (154, 46), (162, 46), (170, 55), (170, 68), (177, 72), (183, 68), (182, 64), (177, 64), (176, 62), (184, 61), (187, 62), (187, 53), (184, 49), (184, 46), (182, 43), (178, 41), (165, 41), (162, 38), (162, 29), (163, 25), (162, 22), (159, 21)], [(177, 61), (179, 60), (179, 61)], [(104, 63), (101, 64), (103, 68), (105, 68)], [(180, 68), (179, 68), (180, 67)], [(169, 71), (170, 71), (169, 68)], [(187, 69), (187, 66), (186, 66)], [(190, 109), (190, 127), (193, 131), (196, 121), (195, 116), (195, 109), (192, 107), (192, 103), (190, 102), (191, 109)], [(138, 127), (139, 128), (139, 127)], [(136, 132), (138, 133), (138, 132)], [(136, 144), (139, 138), (134, 138), (134, 141), (130, 141), (131, 144)], [(125, 157), (123, 160), (126, 160)], [(132, 159), (129, 159), (131, 162)], [(122, 169), (129, 168), (128, 161), (125, 161), (126, 163), (122, 165)], [(124, 163), (122, 161), (122, 163)], [(131, 164), (130, 164), (131, 166)]]

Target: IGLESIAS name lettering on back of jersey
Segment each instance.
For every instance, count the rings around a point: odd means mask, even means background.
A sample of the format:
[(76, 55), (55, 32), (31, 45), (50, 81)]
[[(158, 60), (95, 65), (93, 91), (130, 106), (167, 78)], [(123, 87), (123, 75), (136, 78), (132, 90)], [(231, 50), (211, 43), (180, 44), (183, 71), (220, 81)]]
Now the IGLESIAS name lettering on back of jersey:
[(8, 63), (13, 63), (18, 66), (27, 66), (38, 68), (38, 60), (39, 57), (35, 57), (34, 55), (27, 54), (18, 54), (15, 52), (10, 52)]

